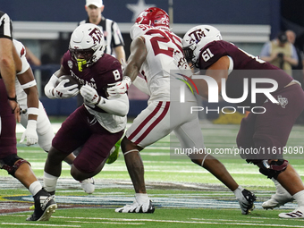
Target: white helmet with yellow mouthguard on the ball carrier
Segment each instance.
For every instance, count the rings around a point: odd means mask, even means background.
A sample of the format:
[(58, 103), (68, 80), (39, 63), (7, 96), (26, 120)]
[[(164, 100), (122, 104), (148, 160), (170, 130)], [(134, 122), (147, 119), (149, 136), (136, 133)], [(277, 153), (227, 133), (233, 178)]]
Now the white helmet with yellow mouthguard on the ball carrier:
[(103, 32), (95, 24), (80, 24), (73, 32), (70, 39), (69, 50), (77, 61), (79, 70), (96, 63), (105, 54), (106, 42)]

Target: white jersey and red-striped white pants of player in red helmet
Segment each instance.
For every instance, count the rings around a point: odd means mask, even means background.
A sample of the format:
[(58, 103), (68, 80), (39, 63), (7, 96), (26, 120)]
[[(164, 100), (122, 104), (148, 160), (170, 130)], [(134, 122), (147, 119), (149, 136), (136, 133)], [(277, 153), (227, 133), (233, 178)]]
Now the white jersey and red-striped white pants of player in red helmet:
[[(182, 70), (190, 72), (181, 38), (169, 30), (134, 25), (131, 38), (138, 37), (145, 39), (148, 50), (140, 73), (147, 80), (150, 99), (126, 131), (127, 139), (145, 148), (174, 131), (182, 148), (204, 148), (198, 114), (190, 112), (192, 106), (198, 106), (197, 100), (181, 76), (186, 73)], [(180, 100), (181, 91), (184, 102)]]

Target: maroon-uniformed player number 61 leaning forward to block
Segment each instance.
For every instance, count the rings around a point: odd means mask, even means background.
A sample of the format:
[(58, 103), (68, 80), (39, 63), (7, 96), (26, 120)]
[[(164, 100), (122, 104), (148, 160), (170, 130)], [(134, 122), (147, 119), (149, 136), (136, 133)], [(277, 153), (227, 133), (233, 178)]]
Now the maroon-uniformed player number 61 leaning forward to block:
[[(239, 99), (235, 103), (251, 110), (241, 121), (237, 145), (240, 152), (254, 151), (241, 153), (241, 156), (248, 163), (258, 165), (260, 173), (275, 182), (277, 192), (263, 207), (280, 207), (294, 198), (298, 207), (279, 216), (304, 218), (303, 183), (299, 174), (283, 159), (291, 128), (304, 108), (300, 83), (274, 65), (222, 40), (220, 31), (212, 26), (199, 25), (190, 29), (183, 37), (182, 46), (187, 61), (193, 67), (205, 70), (202, 74), (217, 82), (216, 88), (199, 76), (193, 77), (197, 79), (200, 95), (210, 98), (212, 91), (224, 88), (223, 97)], [(248, 88), (244, 86), (245, 81)], [(262, 112), (253, 111), (257, 107)]]

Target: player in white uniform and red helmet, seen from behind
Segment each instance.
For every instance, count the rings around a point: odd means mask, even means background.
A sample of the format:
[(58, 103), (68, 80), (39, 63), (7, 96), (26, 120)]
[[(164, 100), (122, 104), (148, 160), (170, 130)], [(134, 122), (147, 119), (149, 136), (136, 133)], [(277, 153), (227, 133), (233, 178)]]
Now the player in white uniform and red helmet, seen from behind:
[[(115, 211), (154, 212), (145, 187), (139, 151), (174, 131), (182, 148), (202, 151), (201, 154), (189, 154), (191, 161), (207, 169), (232, 190), (240, 203), (241, 213), (249, 214), (254, 208), (255, 195), (241, 188), (222, 163), (204, 152), (198, 114), (190, 114), (190, 107), (197, 106), (196, 98), (188, 88), (184, 89), (185, 102), (180, 102), (180, 94), (173, 96), (183, 85), (178, 73), (190, 67), (182, 54), (182, 39), (170, 31), (168, 14), (156, 7), (146, 9), (131, 28), (131, 38), (131, 55), (123, 72), (124, 78), (107, 92), (112, 96), (124, 93), (133, 82), (150, 99), (148, 107), (137, 116), (122, 139), (122, 153), (136, 192), (135, 201)], [(139, 72), (145, 80), (137, 77)]]

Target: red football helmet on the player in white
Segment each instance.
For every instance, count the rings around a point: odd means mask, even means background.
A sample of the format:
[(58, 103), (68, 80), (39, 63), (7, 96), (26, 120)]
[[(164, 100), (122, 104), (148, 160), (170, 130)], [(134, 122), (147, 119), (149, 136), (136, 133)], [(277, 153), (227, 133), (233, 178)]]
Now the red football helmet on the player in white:
[(170, 29), (170, 19), (168, 13), (157, 7), (150, 7), (139, 13), (135, 23), (147, 24), (153, 27), (164, 27)]

